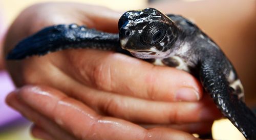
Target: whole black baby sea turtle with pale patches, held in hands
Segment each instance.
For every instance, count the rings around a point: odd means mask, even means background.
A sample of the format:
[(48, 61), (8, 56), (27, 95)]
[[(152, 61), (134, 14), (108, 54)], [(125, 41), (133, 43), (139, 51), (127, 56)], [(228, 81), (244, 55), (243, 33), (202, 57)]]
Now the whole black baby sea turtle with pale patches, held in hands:
[(256, 139), (256, 117), (243, 101), (244, 90), (225, 54), (197, 25), (179, 15), (154, 8), (127, 11), (118, 34), (86, 26), (54, 25), (20, 41), (7, 59), (19, 60), (68, 48), (130, 52), (154, 65), (176, 67), (196, 76), (222, 114), (247, 139)]

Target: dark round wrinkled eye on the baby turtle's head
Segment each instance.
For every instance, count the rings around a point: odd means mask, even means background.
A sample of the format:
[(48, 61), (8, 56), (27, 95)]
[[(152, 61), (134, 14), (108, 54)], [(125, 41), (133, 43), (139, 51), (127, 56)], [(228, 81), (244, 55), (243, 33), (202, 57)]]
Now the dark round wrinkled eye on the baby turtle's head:
[(166, 25), (163, 23), (150, 23), (144, 29), (142, 33), (142, 42), (146, 44), (159, 43), (165, 36)]

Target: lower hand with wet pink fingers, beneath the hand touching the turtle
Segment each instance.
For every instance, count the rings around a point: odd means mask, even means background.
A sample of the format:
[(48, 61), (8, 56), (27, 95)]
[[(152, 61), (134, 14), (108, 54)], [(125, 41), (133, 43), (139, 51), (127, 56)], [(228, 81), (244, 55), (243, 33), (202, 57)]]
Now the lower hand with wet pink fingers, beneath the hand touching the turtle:
[(104, 117), (82, 102), (49, 87), (25, 86), (8, 95), (7, 103), (35, 123), (42, 139), (197, 139), (170, 128), (145, 129)]

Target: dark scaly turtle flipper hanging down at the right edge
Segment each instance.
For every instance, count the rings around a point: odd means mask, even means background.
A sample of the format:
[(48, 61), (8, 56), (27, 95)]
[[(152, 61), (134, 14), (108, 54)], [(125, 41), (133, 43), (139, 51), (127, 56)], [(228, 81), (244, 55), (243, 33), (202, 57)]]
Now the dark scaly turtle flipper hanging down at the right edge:
[(228, 118), (234, 126), (247, 139), (256, 139), (256, 117), (246, 104), (230, 87), (223, 71), (216, 67), (212, 61), (203, 61), (200, 64), (200, 80), (205, 90), (214, 99), (222, 114)]

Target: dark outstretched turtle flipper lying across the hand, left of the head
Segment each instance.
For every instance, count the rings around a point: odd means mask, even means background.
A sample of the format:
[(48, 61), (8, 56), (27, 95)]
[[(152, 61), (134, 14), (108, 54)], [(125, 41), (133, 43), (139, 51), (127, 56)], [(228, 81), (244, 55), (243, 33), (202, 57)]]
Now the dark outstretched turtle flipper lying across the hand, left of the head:
[(49, 26), (20, 41), (7, 59), (19, 60), (68, 48), (116, 50), (120, 49), (119, 36), (76, 24)]

